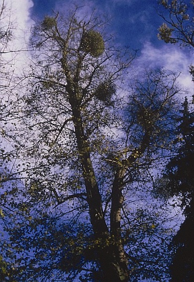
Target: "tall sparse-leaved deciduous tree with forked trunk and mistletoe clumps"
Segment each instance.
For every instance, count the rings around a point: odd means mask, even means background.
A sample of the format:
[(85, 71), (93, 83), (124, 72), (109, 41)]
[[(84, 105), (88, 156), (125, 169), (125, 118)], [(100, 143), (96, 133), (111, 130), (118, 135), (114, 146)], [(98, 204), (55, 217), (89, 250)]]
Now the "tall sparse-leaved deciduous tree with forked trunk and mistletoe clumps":
[[(19, 210), (12, 246), (34, 256), (29, 264), (14, 259), (20, 281), (41, 273), (52, 279), (50, 269), (66, 273), (67, 281), (81, 273), (80, 281), (127, 282), (138, 271), (143, 279), (146, 259), (137, 245), (144, 242), (148, 257), (149, 238), (161, 229), (140, 208), (129, 216), (131, 193), (169, 150), (180, 89), (176, 75), (158, 70), (124, 96), (134, 56), (111, 45), (99, 17), (77, 13), (45, 17), (32, 36), (34, 62), (17, 134), (25, 187), (10, 189), (8, 197), (19, 190), (17, 201), (9, 201)], [(160, 253), (153, 249), (147, 263), (157, 269)], [(159, 273), (160, 267), (150, 276)]]

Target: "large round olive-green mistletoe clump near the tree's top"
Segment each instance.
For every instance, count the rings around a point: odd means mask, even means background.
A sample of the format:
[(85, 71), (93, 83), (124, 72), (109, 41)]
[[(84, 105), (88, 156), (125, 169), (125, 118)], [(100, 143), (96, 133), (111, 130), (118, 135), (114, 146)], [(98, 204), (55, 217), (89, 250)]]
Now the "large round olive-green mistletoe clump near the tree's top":
[(100, 56), (104, 51), (104, 41), (101, 34), (95, 30), (84, 32), (81, 48), (94, 57)]

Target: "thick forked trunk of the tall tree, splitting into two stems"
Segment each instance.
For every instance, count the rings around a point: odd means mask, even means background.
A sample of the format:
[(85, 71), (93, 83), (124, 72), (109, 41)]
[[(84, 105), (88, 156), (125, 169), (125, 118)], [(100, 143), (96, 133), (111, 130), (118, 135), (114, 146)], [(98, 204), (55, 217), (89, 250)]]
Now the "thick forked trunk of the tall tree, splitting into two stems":
[(71, 94), (70, 103), (73, 111), (73, 121), (77, 138), (83, 176), (87, 191), (87, 200), (95, 240), (100, 244), (96, 248), (97, 260), (101, 268), (101, 282), (128, 282), (127, 260), (124, 254), (120, 234), (120, 209), (122, 206), (121, 176), (116, 176), (112, 192), (111, 234), (108, 231), (102, 211), (101, 196), (97, 186), (92, 161), (90, 145), (84, 134), (81, 111), (76, 102), (76, 95)]

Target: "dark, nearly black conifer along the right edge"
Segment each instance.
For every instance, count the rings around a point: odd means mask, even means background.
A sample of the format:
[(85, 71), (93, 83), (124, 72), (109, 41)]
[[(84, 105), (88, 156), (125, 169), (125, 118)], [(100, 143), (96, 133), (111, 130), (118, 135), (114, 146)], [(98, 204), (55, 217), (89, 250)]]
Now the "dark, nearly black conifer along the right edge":
[(194, 112), (189, 111), (187, 98), (181, 110), (177, 155), (166, 168), (168, 196), (179, 195), (186, 216), (185, 222), (173, 239), (174, 255), (171, 275), (173, 282), (194, 280)]

